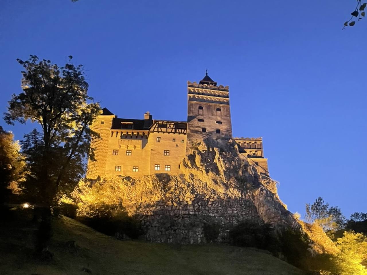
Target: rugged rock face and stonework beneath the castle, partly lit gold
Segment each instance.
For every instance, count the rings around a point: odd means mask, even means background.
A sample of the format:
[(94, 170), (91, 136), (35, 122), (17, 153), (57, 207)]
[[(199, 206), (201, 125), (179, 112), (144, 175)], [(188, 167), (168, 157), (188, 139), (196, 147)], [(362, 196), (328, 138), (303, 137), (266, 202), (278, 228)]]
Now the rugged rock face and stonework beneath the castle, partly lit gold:
[(192, 145), (181, 163), (182, 174), (131, 178), (116, 176), (81, 183), (73, 192), (79, 214), (105, 203), (139, 219), (144, 238), (155, 242), (206, 242), (205, 224), (219, 225), (218, 241), (242, 221), (301, 228), (280, 201), (276, 183), (260, 175), (239, 154), (233, 140)]

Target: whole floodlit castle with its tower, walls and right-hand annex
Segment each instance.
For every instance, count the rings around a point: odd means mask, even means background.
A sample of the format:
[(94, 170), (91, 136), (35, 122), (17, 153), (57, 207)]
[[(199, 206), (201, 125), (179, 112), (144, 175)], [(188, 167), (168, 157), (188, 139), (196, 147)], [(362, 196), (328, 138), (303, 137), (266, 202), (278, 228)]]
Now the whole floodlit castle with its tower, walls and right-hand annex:
[[(181, 161), (196, 140), (232, 137), (229, 87), (217, 86), (208, 74), (199, 82), (187, 84), (187, 121), (119, 118), (103, 108), (91, 126), (99, 133), (92, 139), (94, 159), (89, 159), (87, 177), (123, 175), (138, 177), (155, 173), (180, 174)], [(233, 138), (250, 165), (268, 174), (262, 138)]]

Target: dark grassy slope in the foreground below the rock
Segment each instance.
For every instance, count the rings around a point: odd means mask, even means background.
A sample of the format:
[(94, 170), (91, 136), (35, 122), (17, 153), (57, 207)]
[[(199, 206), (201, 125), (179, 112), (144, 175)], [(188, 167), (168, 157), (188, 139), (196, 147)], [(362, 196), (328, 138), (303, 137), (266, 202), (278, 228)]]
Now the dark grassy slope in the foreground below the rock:
[[(37, 262), (31, 250), (34, 230), (26, 224), (0, 227), (0, 274), (304, 274), (257, 249), (119, 241), (67, 217), (54, 221), (50, 246), (54, 260)], [(76, 247), (69, 247), (68, 241), (75, 241)]]

